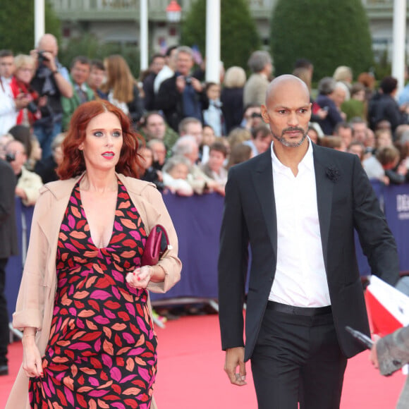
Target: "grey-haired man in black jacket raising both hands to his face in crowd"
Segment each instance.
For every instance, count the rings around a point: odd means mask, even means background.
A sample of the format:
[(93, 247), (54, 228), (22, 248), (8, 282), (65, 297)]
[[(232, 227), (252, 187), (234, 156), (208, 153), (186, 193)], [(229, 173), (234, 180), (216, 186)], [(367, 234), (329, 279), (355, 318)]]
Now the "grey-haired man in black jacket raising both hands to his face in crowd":
[(197, 78), (190, 76), (193, 53), (190, 47), (178, 47), (176, 73), (164, 80), (157, 94), (157, 109), (164, 111), (166, 122), (178, 131), (178, 123), (187, 117), (203, 122), (202, 110), (209, 107), (209, 99)]

